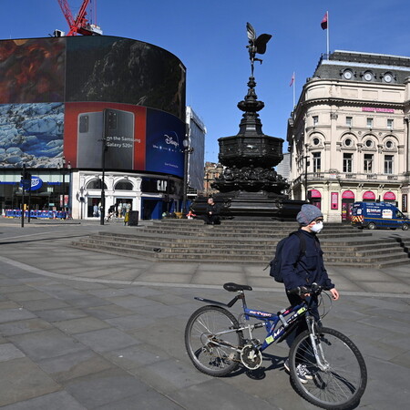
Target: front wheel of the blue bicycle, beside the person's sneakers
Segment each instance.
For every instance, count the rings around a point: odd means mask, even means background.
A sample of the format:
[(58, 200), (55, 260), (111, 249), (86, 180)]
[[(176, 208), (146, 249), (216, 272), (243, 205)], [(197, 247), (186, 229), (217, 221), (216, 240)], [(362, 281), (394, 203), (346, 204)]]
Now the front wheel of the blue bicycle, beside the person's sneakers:
[[(296, 391), (313, 405), (325, 409), (343, 410), (359, 402), (367, 384), (364, 358), (356, 345), (343, 333), (320, 328), (316, 343), (320, 343), (323, 356), (329, 364), (322, 370), (316, 364), (309, 331), (294, 340), (289, 354), (292, 382)], [(313, 378), (303, 384), (296, 367), (304, 364)], [(305, 381), (306, 382), (306, 381)]]

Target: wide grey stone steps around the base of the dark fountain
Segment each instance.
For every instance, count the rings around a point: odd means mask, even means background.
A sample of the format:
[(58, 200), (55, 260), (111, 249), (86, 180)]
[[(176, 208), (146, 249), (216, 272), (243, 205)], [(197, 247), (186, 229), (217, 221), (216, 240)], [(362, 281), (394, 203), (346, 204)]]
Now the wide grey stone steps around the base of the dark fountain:
[[(220, 226), (206, 226), (204, 230), (203, 225), (195, 220), (165, 221), (163, 225), (154, 222), (152, 226), (138, 228), (134, 233), (100, 232), (73, 242), (73, 246), (149, 261), (267, 264), (273, 258), (276, 243), (296, 229), (294, 223), (269, 224), (274, 234), (265, 236), (249, 233), (252, 225), (263, 226), (261, 223), (236, 221), (234, 224), (230, 221)], [(354, 230), (348, 225), (333, 225), (326, 224), (327, 232), (320, 234), (323, 258), (328, 265), (380, 268), (408, 262), (403, 241), (374, 239), (371, 232)], [(158, 226), (160, 230), (156, 229)], [(206, 234), (187, 234), (187, 231), (196, 231), (197, 228)], [(231, 228), (235, 232), (232, 233)], [(215, 235), (218, 230), (220, 236)]]

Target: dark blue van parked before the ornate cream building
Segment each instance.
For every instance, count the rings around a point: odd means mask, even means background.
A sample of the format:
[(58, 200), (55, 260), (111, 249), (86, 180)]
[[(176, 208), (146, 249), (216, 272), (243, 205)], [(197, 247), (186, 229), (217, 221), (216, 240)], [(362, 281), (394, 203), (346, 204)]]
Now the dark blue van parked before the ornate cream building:
[(392, 203), (354, 202), (352, 225), (369, 230), (401, 228), (403, 231), (407, 231), (410, 227), (410, 220)]

